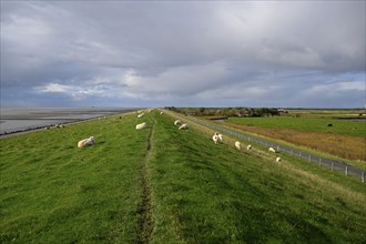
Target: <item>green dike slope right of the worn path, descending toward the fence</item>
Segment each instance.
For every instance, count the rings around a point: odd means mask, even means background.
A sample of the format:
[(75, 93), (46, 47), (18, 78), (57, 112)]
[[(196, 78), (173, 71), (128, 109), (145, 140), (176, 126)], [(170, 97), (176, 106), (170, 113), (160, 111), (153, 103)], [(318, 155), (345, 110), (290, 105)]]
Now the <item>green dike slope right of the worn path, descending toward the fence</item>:
[(261, 152), (214, 145), (211, 135), (177, 131), (172, 119), (159, 123), (151, 161), (153, 243), (365, 241), (358, 181), (294, 157), (277, 165)]

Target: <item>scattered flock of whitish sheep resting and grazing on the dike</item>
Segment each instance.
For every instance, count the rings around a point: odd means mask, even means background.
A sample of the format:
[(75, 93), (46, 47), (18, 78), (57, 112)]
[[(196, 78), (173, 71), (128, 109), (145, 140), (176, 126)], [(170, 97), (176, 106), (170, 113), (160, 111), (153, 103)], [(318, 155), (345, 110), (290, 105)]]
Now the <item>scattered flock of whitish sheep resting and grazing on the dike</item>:
[[(150, 113), (151, 110), (148, 110), (148, 112)], [(138, 113), (139, 119), (142, 118), (145, 114), (145, 112), (143, 110), (136, 111), (136, 113)], [(163, 114), (163, 112), (160, 112), (160, 115), (162, 115), (162, 114)], [(182, 123), (181, 120), (175, 120), (174, 125), (179, 126), (179, 130), (187, 130), (190, 128), (189, 124)], [(146, 126), (148, 126), (146, 122), (143, 122), (143, 123), (136, 124), (135, 129), (136, 130), (142, 130), (142, 129), (145, 129)], [(222, 142), (223, 139), (224, 139), (223, 134), (220, 134), (217, 132), (215, 132), (214, 135), (212, 136), (212, 140), (215, 144), (217, 144), (218, 142)], [(78, 148), (84, 148), (87, 145), (92, 145), (94, 143), (95, 143), (94, 136), (90, 136), (89, 139), (83, 139), (83, 140), (79, 141), (78, 142)], [(242, 144), (241, 144), (240, 141), (235, 141), (234, 145), (237, 150), (241, 150), (241, 148), (242, 148)], [(252, 145), (248, 144), (246, 146), (246, 150), (251, 151)], [(268, 152), (276, 153), (276, 150), (274, 148), (268, 148)], [(282, 161), (282, 159), (279, 156), (277, 156), (276, 162), (279, 163), (281, 161)]]

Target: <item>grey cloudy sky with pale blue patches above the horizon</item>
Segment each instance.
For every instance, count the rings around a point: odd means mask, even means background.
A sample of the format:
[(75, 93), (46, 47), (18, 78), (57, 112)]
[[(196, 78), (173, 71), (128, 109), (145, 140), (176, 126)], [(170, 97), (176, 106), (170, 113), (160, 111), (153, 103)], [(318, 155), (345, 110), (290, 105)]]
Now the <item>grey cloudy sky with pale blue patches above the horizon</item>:
[(1, 106), (365, 106), (365, 1), (1, 0)]

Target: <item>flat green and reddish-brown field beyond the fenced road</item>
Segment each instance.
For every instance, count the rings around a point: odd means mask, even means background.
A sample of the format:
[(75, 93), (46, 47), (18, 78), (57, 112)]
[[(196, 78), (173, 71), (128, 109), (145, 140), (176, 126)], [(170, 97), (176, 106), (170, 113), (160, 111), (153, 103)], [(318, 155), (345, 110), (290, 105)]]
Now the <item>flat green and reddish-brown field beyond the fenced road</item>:
[[(366, 123), (321, 118), (231, 118), (241, 130), (366, 164)], [(327, 126), (333, 124), (333, 126)], [(362, 162), (359, 162), (362, 161)]]

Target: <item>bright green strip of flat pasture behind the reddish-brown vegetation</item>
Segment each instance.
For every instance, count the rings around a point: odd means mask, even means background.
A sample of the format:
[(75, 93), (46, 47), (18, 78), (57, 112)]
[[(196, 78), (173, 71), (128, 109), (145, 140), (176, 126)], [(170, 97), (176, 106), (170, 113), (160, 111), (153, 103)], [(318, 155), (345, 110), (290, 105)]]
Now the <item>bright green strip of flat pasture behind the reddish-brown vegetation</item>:
[[(366, 123), (319, 118), (230, 118), (227, 122), (270, 129), (293, 129), (306, 132), (336, 133), (357, 138), (366, 138)], [(333, 124), (328, 128), (328, 124)], [(356, 129), (355, 129), (356, 128)]]

